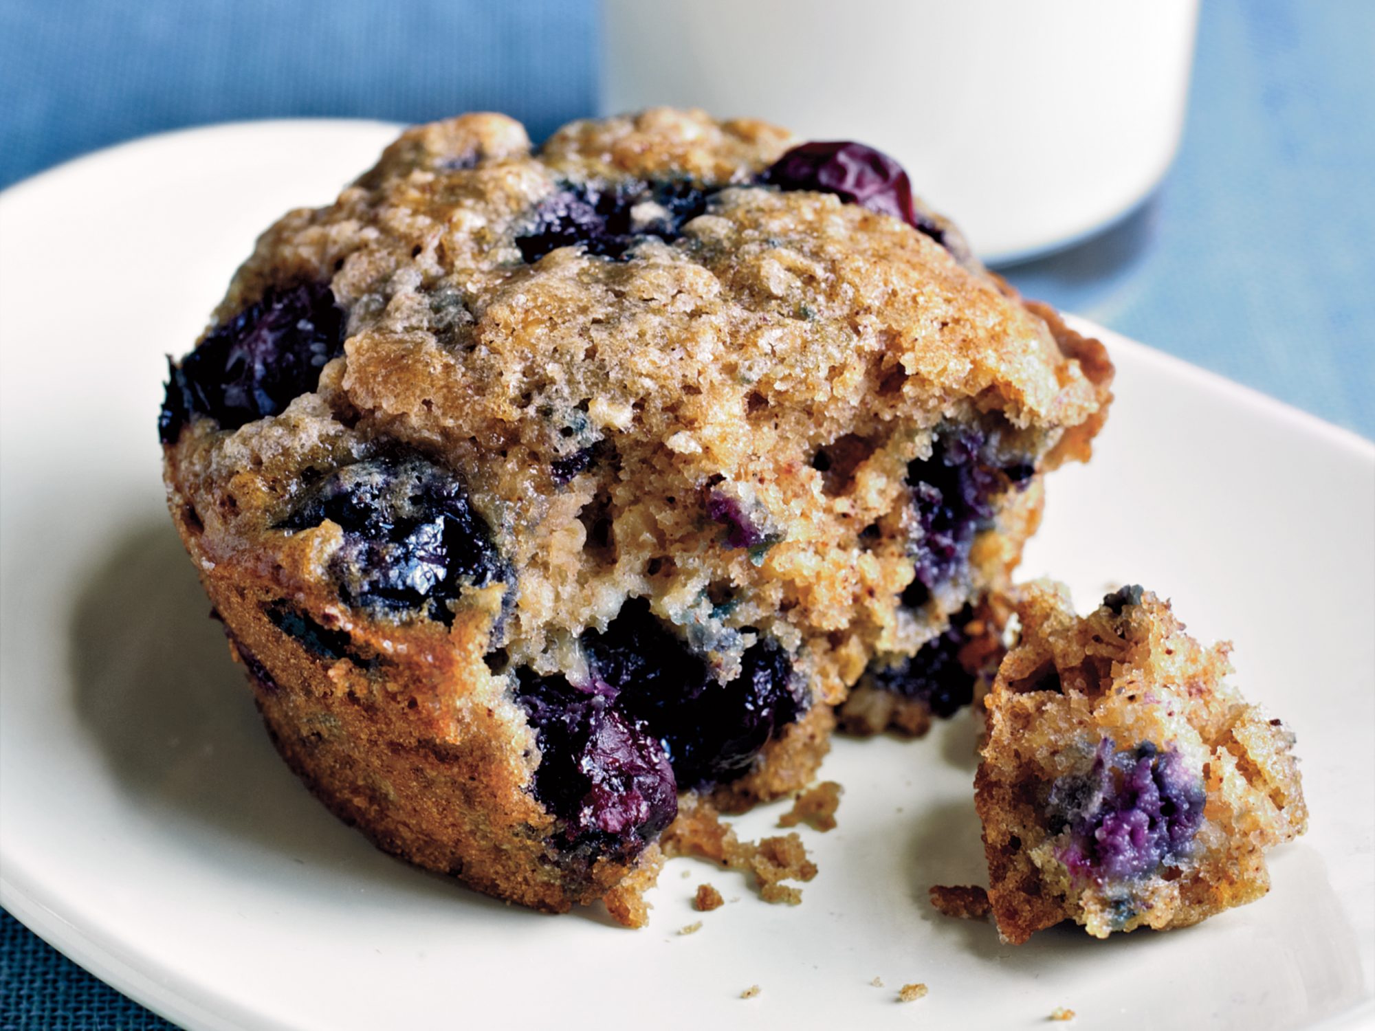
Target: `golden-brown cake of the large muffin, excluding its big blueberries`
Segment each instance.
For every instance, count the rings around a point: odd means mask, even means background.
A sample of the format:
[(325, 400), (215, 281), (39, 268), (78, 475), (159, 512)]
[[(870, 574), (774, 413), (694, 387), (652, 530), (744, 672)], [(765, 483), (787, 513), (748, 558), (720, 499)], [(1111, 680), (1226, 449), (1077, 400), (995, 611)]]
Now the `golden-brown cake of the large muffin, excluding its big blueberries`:
[[(228, 631), (276, 686), (257, 694), (278, 748), (384, 848), (542, 909), (620, 885), (612, 911), (641, 922), (634, 885), (654, 854), (593, 869), (551, 856), (531, 795), (539, 749), (512, 675), (484, 656), (576, 668), (579, 636), (627, 598), (649, 599), (722, 680), (767, 635), (814, 704), (716, 800), (786, 795), (811, 779), (829, 707), (872, 656), (913, 653), (1005, 584), (1040, 518), (1038, 472), (980, 531), (967, 576), (899, 616), (908, 463), (945, 428), (978, 426), (1044, 470), (1077, 426), (1096, 428), (1111, 366), (976, 263), (830, 195), (744, 186), (789, 143), (670, 110), (575, 122), (539, 153), (503, 115), (417, 126), (334, 205), (271, 227), (236, 274), (216, 322), (270, 287), (329, 283), (344, 355), (278, 415), (191, 419), (165, 450), (168, 503)], [(628, 177), (741, 186), (630, 260), (522, 260), (543, 201)], [(842, 440), (862, 454), (832, 483), (811, 458)], [(612, 456), (561, 483), (557, 463), (593, 445)], [(451, 627), (346, 605), (330, 576), (341, 528), (280, 529), (322, 476), (396, 451), (461, 478), (510, 570), (468, 590)], [(770, 546), (725, 547), (708, 489), (758, 513)], [(861, 546), (866, 525), (881, 532)], [(346, 635), (348, 654), (285, 634), (264, 616), (276, 602)]]

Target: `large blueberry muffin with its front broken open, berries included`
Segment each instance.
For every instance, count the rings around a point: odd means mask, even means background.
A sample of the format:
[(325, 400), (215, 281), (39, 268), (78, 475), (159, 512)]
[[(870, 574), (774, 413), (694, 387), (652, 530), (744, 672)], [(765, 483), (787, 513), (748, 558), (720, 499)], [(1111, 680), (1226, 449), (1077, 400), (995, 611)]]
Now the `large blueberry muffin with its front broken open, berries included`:
[(793, 143), (410, 129), (172, 366), (172, 517), (278, 749), (380, 847), (642, 921), (679, 793), (803, 786), (1088, 456), (1101, 345), (891, 159)]

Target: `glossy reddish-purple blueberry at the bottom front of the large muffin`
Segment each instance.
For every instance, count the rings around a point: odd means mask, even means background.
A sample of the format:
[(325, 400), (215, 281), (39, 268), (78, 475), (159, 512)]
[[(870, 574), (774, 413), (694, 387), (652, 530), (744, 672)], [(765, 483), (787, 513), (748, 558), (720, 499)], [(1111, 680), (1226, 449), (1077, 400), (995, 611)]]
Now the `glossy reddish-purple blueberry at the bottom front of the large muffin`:
[(562, 822), (566, 855), (631, 859), (678, 814), (663, 745), (612, 707), (605, 691), (522, 669), (517, 701), (535, 729), (535, 797)]

